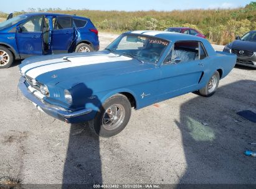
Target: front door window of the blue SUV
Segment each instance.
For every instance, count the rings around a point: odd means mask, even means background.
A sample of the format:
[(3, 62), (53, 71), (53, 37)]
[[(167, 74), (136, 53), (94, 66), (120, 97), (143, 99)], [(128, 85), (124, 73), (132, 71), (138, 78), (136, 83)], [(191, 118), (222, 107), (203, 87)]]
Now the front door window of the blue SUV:
[(21, 24), (22, 32), (41, 32), (42, 29), (42, 16), (36, 16), (29, 19), (29, 21)]

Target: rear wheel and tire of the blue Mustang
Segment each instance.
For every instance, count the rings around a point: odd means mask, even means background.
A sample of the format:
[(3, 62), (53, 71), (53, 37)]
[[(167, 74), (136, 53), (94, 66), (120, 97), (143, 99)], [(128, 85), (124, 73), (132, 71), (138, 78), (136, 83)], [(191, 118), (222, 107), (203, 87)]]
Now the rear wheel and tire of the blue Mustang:
[[(214, 78), (214, 79), (213, 79)], [(219, 86), (219, 71), (215, 71), (214, 74), (211, 76), (210, 80), (207, 82), (206, 86), (204, 86), (204, 88), (202, 88), (201, 90), (199, 90), (199, 94), (202, 96), (212, 96), (212, 94), (214, 94)], [(211, 83), (213, 83), (212, 80), (216, 80), (214, 81), (214, 85), (212, 85)], [(212, 88), (211, 88), (212, 85)]]

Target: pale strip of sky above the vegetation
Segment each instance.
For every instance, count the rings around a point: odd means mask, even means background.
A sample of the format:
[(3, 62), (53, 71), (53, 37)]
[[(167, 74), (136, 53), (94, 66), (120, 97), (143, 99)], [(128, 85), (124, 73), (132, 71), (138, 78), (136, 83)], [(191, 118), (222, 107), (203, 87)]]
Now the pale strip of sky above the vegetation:
[[(4, 0), (2, 0), (4, 1)], [(117, 10), (117, 11), (140, 11), (156, 10), (171, 11), (173, 9), (217, 9), (234, 8), (249, 4), (252, 0), (9, 0), (1, 3), (0, 11), (27, 11), (29, 7), (33, 8), (54, 8), (61, 9), (90, 9), (90, 10)]]

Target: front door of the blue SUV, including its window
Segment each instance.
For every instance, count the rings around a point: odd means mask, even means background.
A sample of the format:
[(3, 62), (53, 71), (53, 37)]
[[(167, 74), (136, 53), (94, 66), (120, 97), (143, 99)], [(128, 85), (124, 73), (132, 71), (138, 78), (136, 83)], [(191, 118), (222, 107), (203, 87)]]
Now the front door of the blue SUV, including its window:
[(43, 16), (34, 16), (17, 27), (16, 44), (22, 58), (43, 54), (42, 22)]

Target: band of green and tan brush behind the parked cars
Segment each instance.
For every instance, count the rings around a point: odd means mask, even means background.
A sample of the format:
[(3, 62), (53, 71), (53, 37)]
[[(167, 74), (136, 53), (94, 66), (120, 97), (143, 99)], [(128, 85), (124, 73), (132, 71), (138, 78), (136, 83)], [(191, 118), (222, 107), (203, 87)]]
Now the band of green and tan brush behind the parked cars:
[[(89, 11), (57, 9), (29, 9), (29, 11), (60, 12), (89, 17), (99, 30), (123, 32), (126, 30), (164, 30), (167, 27), (193, 27), (215, 44), (227, 44), (236, 35), (256, 29), (256, 2), (240, 9), (187, 11)], [(15, 15), (22, 12), (14, 12)], [(1, 14), (0, 17), (6, 17)]]

